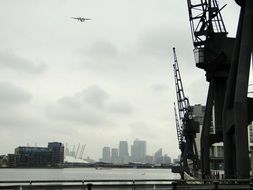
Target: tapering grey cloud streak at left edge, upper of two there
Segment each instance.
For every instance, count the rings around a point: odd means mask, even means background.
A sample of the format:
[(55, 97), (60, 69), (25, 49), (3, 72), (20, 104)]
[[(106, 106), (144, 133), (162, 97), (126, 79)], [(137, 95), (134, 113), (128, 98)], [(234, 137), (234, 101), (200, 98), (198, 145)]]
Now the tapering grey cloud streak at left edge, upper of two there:
[(0, 51), (0, 68), (35, 74), (43, 72), (46, 66), (42, 63), (35, 64), (13, 53)]

